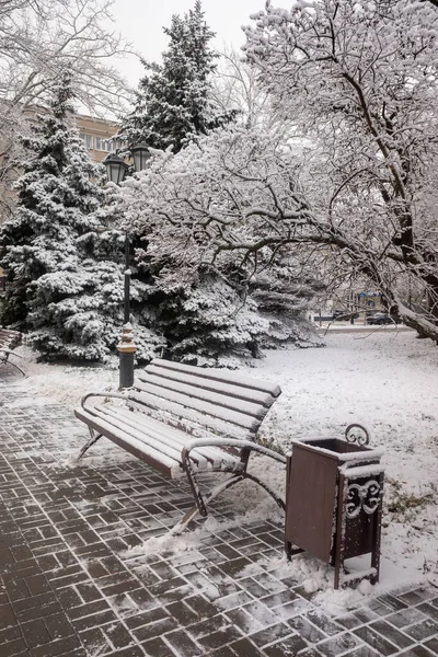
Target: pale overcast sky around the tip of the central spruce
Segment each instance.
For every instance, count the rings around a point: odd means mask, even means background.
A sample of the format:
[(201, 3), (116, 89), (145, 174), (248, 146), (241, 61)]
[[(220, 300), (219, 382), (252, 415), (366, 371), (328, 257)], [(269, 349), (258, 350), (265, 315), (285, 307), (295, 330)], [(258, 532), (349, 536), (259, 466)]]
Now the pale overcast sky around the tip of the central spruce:
[[(168, 38), (163, 26), (169, 27), (172, 15), (183, 15), (193, 9), (195, 0), (115, 0), (112, 13), (118, 32), (132, 43), (148, 61), (160, 61)], [(287, 2), (285, 3), (287, 4)], [(214, 47), (222, 44), (239, 48), (244, 42), (242, 25), (250, 25), (250, 14), (264, 8), (264, 0), (203, 0), (208, 26), (216, 32)], [(128, 81), (137, 87), (143, 67), (135, 58), (120, 60), (118, 68)]]

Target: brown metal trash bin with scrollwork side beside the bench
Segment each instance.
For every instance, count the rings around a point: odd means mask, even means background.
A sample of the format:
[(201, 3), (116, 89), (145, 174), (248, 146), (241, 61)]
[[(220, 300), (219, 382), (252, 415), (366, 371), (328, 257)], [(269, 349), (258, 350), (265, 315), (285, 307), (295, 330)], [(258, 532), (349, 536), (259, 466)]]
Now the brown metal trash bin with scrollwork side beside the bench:
[[(295, 440), (288, 457), (286, 553), (307, 551), (335, 568), (335, 588), (379, 580), (383, 498), (381, 449), (337, 438)], [(345, 574), (344, 561), (371, 553), (370, 567)]]

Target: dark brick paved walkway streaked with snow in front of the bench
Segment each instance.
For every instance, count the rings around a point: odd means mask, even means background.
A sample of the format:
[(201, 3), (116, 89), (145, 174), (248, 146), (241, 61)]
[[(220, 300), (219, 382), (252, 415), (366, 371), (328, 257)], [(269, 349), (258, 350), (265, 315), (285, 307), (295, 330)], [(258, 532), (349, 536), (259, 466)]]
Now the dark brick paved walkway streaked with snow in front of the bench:
[[(192, 506), (185, 482), (103, 441), (62, 466), (83, 427), (5, 372), (0, 415), (0, 657), (438, 655), (437, 589), (325, 618), (272, 565), (283, 554), (272, 521), (212, 532), (177, 555), (132, 555)], [(229, 504), (215, 517), (231, 518)]]

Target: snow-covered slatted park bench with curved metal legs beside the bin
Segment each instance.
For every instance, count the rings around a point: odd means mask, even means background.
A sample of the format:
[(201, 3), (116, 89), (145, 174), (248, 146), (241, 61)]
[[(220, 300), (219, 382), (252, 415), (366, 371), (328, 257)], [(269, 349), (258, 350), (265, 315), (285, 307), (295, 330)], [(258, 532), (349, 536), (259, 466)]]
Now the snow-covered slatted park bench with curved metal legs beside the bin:
[[(124, 393), (90, 393), (76, 416), (91, 439), (79, 459), (102, 436), (171, 479), (186, 475), (196, 505), (175, 528), (183, 530), (219, 493), (247, 477), (267, 491), (284, 509), (268, 484), (247, 471), (252, 451), (286, 464), (278, 452), (255, 442), (257, 430), (281, 393), (265, 380), (221, 369), (206, 369), (154, 359)], [(201, 494), (199, 473), (229, 476)]]

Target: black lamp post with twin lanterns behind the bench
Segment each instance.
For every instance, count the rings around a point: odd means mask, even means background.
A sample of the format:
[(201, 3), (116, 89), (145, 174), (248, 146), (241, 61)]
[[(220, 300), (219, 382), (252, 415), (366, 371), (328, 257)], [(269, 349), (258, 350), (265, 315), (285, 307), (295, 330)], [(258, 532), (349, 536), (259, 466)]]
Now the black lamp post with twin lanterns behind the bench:
[[(150, 158), (150, 152), (146, 143), (139, 143), (131, 148), (134, 158), (134, 168), (141, 171), (146, 168), (146, 162)], [(128, 165), (118, 155), (110, 154), (104, 162), (106, 177), (112, 183), (120, 185)], [(130, 269), (129, 269), (129, 235), (125, 234), (125, 288), (124, 288), (124, 325), (122, 328), (120, 342), (117, 345), (119, 355), (119, 388), (130, 388), (134, 383), (134, 359), (136, 355), (136, 345), (132, 341), (132, 326), (130, 324)]]

